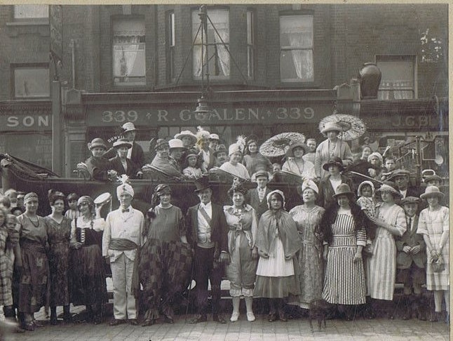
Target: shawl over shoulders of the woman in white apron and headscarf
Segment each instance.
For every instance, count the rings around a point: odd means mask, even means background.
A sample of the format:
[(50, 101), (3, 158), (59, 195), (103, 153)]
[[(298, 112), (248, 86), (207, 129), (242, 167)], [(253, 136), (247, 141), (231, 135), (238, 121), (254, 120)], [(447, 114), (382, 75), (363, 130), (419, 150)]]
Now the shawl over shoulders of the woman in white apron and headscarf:
[(259, 219), (256, 246), (269, 253), (277, 234), (283, 243), (285, 257), (292, 257), (300, 249), (300, 237), (297, 226), (290, 213), (284, 210), (266, 210)]

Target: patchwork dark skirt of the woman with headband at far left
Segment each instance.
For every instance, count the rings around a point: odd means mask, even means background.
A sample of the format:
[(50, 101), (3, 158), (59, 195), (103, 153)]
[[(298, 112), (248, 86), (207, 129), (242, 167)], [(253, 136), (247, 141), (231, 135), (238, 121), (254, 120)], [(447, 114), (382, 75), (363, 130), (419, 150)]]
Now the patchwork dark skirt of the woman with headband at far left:
[(21, 241), (22, 273), (19, 283), (19, 312), (33, 314), (46, 305), (49, 267), (41, 243)]

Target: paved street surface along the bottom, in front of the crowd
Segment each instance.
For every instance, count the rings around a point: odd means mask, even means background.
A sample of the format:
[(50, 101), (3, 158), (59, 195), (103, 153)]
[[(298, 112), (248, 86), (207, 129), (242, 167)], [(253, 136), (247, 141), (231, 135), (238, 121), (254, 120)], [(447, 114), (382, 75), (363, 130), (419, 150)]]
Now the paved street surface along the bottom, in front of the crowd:
[[(75, 307), (72, 312), (80, 312), (82, 307)], [(45, 320), (43, 313), (36, 314), (39, 320)], [(191, 316), (187, 316), (190, 318)], [(227, 316), (226, 316), (227, 317)], [(211, 316), (209, 316), (211, 318)], [(412, 319), (357, 319), (355, 321), (327, 320), (327, 327), (318, 330), (309, 321), (290, 319), (288, 322), (269, 323), (266, 315), (257, 315), (255, 322), (248, 322), (241, 312), (236, 323), (219, 324), (209, 319), (208, 322), (191, 325), (185, 316), (176, 316), (174, 324), (158, 321), (154, 326), (130, 326), (122, 324), (111, 327), (107, 322), (100, 325), (91, 323), (61, 323), (58, 326), (37, 328), (33, 332), (8, 335), (6, 340), (18, 341), (97, 341), (97, 340), (193, 340), (193, 341), (234, 341), (234, 340), (449, 340), (449, 325), (438, 322)]]

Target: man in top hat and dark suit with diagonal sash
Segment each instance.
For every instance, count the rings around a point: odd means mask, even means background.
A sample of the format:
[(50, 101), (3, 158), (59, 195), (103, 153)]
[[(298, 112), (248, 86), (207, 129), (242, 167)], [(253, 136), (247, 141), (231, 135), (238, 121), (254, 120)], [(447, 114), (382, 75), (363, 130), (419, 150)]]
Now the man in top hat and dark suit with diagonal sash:
[(211, 203), (212, 189), (207, 180), (196, 182), (200, 203), (187, 210), (187, 239), (195, 249), (194, 279), (198, 314), (189, 323), (207, 321), (208, 279), (212, 290), (212, 319), (227, 323), (219, 311), (220, 282), (224, 264), (229, 263), (228, 227), (222, 206)]

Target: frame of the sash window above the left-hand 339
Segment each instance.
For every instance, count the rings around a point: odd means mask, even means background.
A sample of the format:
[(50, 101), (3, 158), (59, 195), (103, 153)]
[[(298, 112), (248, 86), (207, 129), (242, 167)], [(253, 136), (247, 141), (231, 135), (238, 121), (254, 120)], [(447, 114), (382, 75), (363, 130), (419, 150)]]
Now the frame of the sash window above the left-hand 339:
[[(143, 51), (144, 53), (144, 74), (142, 77), (144, 80), (143, 81), (130, 81), (130, 82), (116, 82), (115, 79), (119, 78), (119, 76), (114, 75), (114, 48), (116, 44), (114, 42), (114, 28), (115, 28), (115, 22), (120, 21), (120, 20), (142, 20), (143, 21), (143, 27), (144, 27), (144, 42), (138, 42), (137, 44), (143, 44), (143, 48), (140, 51)], [(147, 62), (146, 62), (146, 56), (147, 56), (147, 41), (146, 41), (146, 21), (145, 21), (145, 16), (144, 15), (112, 15), (111, 19), (111, 30), (110, 30), (110, 39), (111, 39), (111, 48), (110, 48), (110, 53), (111, 53), (111, 83), (114, 89), (126, 89), (126, 88), (144, 88), (147, 86)]]

